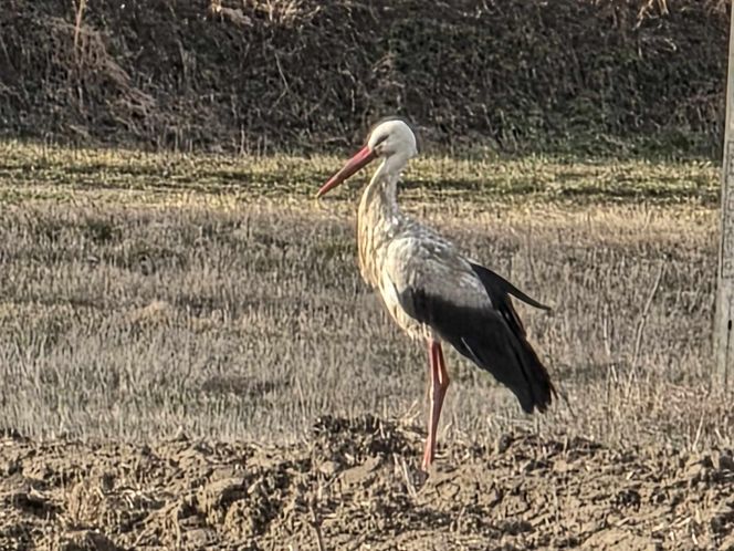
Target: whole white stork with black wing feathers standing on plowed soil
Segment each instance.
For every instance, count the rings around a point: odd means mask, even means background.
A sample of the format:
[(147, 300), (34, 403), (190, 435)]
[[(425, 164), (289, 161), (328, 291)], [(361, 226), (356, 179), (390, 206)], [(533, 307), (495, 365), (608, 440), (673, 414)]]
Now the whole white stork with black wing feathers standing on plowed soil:
[(510, 294), (533, 306), (548, 308), (400, 211), (397, 185), (417, 153), (410, 126), (401, 118), (384, 119), (369, 133), (367, 145), (316, 197), (381, 158), (359, 201), (359, 267), (365, 281), (379, 290), (396, 323), (411, 337), (428, 342), (432, 407), (422, 462), (428, 471), (436, 456), (436, 433), (449, 386), (442, 342), (507, 386), (526, 413), (545, 412), (556, 391), (527, 342)]

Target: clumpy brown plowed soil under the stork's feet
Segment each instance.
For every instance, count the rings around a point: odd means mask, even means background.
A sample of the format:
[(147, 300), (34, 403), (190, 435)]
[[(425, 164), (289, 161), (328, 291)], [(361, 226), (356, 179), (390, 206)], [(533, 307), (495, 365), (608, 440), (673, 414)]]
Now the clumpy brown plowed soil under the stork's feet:
[(0, 446), (0, 549), (734, 549), (734, 459), (322, 418), (298, 445)]

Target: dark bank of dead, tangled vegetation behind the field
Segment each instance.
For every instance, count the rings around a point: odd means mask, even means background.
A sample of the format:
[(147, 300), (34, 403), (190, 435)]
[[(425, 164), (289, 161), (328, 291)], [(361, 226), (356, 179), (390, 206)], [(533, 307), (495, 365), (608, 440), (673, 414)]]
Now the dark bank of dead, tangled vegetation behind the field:
[(9, 0), (0, 132), (313, 150), (399, 113), (442, 146), (711, 154), (727, 29), (721, 0)]

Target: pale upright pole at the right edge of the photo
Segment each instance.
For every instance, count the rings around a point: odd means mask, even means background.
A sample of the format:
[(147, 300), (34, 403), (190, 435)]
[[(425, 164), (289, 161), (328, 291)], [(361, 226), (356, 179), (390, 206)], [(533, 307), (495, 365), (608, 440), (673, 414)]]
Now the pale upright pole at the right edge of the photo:
[(727, 391), (732, 385), (734, 361), (734, 9), (730, 13), (728, 71), (726, 75), (726, 121), (721, 189), (721, 241), (714, 349), (716, 373), (714, 388)]

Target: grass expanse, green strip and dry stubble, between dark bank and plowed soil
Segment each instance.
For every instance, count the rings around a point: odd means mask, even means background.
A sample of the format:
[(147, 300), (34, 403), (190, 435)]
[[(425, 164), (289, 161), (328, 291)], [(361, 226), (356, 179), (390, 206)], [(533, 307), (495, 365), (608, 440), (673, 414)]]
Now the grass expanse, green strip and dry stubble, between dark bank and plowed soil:
[[(8, 426), (292, 439), (323, 413), (421, 415), (422, 346), (355, 266), (358, 186), (312, 200), (340, 159), (15, 143), (0, 159)], [(715, 167), (428, 158), (406, 176), (406, 209), (554, 305), (523, 314), (576, 412), (524, 417), (451, 354), (450, 436), (731, 445), (706, 389)]]

